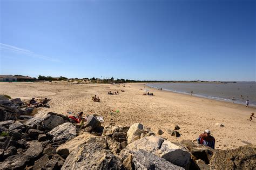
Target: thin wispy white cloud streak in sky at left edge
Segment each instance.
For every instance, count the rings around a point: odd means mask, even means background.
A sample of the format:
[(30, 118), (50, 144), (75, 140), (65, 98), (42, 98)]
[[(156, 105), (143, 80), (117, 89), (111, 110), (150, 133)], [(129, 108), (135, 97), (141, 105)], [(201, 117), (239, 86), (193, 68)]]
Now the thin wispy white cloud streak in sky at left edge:
[(8, 44), (0, 43), (0, 49), (5, 49), (5, 50), (10, 50), (10, 51), (15, 51), (15, 52), (23, 53), (26, 56), (30, 56), (30, 57), (38, 58), (38, 59), (49, 60), (51, 62), (60, 62), (60, 60), (53, 59), (53, 58), (46, 57), (46, 56), (42, 56), (42, 55), (38, 55), (37, 53), (32, 52), (30, 50), (21, 49), (19, 47), (8, 45)]

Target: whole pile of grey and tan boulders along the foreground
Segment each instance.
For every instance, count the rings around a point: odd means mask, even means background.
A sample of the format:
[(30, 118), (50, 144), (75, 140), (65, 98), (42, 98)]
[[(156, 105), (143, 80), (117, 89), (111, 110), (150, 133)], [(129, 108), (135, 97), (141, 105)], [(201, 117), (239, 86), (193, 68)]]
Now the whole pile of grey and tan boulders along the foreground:
[(0, 121), (1, 169), (252, 169), (256, 165), (256, 146), (215, 151), (192, 141), (173, 143), (139, 123), (102, 127), (90, 115), (84, 125), (77, 125), (61, 114), (24, 117), (17, 105), (5, 106), (0, 105), (1, 117), (8, 115)]

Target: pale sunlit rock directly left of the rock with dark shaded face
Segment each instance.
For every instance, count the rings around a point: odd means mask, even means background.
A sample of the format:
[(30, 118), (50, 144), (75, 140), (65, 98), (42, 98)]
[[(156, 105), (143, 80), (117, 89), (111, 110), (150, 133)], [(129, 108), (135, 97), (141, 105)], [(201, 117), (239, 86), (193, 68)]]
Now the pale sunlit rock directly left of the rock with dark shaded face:
[(131, 150), (143, 149), (147, 152), (155, 152), (161, 147), (163, 142), (163, 138), (150, 136), (131, 142), (129, 145), (126, 146), (126, 148)]

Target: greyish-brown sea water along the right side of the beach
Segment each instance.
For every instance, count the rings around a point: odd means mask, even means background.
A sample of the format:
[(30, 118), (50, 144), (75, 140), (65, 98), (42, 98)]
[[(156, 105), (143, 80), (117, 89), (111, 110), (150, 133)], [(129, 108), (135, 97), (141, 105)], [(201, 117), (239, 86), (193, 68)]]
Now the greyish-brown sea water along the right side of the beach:
[(147, 84), (147, 86), (190, 95), (193, 91), (193, 96), (239, 104), (246, 104), (246, 100), (249, 100), (250, 105), (256, 106), (255, 81), (238, 81), (237, 83), (152, 83)]

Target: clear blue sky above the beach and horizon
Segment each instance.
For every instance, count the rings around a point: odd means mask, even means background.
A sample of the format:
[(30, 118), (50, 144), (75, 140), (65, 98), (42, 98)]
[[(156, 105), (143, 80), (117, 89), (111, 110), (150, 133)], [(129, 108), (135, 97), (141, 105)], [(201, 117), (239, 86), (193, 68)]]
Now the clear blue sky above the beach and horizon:
[(256, 1), (0, 2), (0, 74), (256, 80)]

